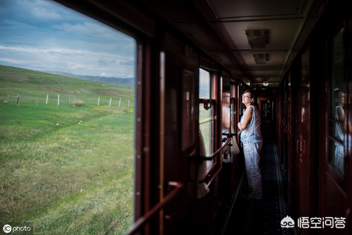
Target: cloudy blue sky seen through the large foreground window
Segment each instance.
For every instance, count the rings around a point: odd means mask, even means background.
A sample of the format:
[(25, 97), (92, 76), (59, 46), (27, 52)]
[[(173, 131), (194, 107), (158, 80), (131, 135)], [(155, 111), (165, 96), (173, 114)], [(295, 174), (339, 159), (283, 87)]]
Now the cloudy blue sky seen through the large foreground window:
[(135, 76), (136, 43), (50, 0), (0, 0), (0, 64), (78, 75)]

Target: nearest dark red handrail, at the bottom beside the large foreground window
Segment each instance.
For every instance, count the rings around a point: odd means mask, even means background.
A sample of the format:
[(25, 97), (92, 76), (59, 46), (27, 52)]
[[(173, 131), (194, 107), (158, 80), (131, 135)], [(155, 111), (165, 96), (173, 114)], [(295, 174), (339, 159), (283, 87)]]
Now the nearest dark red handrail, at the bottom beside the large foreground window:
[(172, 189), (171, 192), (168, 193), (168, 195), (166, 195), (164, 197), (164, 199), (159, 202), (158, 204), (156, 204), (152, 209), (150, 209), (149, 211), (147, 211), (144, 216), (139, 217), (133, 224), (133, 228), (128, 232), (128, 235), (132, 235), (134, 234), (141, 226), (143, 226), (146, 222), (148, 222), (150, 220), (150, 218), (160, 209), (164, 208), (166, 204), (168, 204), (172, 198), (174, 198), (180, 191), (182, 188), (182, 183), (180, 182), (174, 182), (174, 181), (170, 181), (168, 182), (168, 185), (170, 186), (174, 186), (175, 188)]

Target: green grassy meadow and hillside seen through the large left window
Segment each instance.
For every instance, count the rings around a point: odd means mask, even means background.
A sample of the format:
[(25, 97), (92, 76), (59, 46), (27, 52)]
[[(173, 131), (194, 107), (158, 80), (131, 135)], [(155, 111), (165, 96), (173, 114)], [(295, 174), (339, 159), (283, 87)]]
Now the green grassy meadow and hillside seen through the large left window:
[(133, 156), (133, 88), (0, 65), (1, 222), (32, 222), (33, 234), (126, 233)]

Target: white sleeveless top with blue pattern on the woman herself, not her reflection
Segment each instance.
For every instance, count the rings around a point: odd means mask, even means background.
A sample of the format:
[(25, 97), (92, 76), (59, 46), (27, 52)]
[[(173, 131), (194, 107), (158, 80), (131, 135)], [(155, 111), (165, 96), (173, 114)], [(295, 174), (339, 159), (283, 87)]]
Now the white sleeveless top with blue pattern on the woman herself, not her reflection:
[[(245, 143), (255, 143), (262, 141), (262, 135), (260, 133), (260, 115), (259, 111), (255, 106), (249, 106), (248, 108), (252, 107), (253, 109), (253, 116), (246, 129), (243, 129), (241, 132), (241, 141)], [(248, 109), (247, 108), (247, 109)], [(243, 123), (244, 116), (246, 114), (247, 109), (243, 112), (241, 116), (241, 123)]]

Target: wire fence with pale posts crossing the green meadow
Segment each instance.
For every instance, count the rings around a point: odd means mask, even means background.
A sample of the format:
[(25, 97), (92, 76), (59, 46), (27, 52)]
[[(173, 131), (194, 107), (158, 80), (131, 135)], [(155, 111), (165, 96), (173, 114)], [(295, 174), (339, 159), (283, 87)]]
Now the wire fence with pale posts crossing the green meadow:
[(67, 94), (46, 94), (42, 96), (18, 94), (18, 95), (2, 95), (0, 96), (4, 103), (41, 103), (41, 104), (70, 104), (73, 105), (75, 101), (80, 100), (84, 104), (96, 104), (102, 106), (124, 106), (135, 107), (136, 100), (128, 99), (127, 97), (110, 97), (104, 99), (100, 96), (78, 96)]

